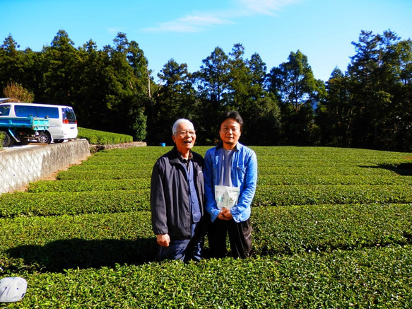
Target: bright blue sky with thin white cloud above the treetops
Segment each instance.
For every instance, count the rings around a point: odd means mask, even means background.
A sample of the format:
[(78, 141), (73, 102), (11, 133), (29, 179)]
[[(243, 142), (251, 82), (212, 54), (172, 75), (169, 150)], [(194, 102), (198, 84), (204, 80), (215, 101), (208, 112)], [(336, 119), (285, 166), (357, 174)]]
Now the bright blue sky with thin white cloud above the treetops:
[(170, 59), (199, 70), (215, 47), (226, 54), (245, 47), (268, 71), (298, 49), (314, 77), (327, 81), (346, 71), (361, 30), (392, 30), (412, 37), (411, 0), (0, 0), (0, 39), (10, 34), (20, 49), (40, 51), (59, 30), (75, 47), (93, 40), (102, 49), (118, 32), (139, 43), (157, 74)]

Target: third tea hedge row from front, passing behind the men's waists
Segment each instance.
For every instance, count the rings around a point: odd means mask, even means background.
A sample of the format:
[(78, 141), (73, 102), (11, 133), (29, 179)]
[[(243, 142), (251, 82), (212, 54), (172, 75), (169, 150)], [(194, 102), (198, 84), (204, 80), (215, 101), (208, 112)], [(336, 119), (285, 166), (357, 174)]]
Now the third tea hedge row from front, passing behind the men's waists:
[[(387, 185), (259, 187), (253, 206), (412, 203), (411, 187)], [(0, 218), (115, 213), (150, 209), (150, 189), (2, 194)]]

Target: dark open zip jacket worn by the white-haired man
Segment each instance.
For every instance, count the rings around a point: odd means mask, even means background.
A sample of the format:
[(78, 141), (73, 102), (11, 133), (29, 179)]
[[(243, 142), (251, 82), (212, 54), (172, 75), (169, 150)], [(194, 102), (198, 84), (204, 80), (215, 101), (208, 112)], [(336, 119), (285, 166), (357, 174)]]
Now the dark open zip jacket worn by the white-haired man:
[[(204, 158), (192, 151), (194, 182), (201, 215), (204, 216)], [(168, 233), (170, 238), (191, 238), (192, 211), (186, 167), (174, 147), (158, 158), (151, 178), (152, 226), (155, 235)]]

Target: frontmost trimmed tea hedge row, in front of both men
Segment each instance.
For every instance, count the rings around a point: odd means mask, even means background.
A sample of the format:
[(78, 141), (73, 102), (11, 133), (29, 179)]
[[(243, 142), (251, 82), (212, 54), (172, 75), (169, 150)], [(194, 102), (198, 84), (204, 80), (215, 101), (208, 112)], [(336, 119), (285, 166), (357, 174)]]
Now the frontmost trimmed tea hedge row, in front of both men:
[(412, 247), (27, 274), (8, 308), (410, 308)]

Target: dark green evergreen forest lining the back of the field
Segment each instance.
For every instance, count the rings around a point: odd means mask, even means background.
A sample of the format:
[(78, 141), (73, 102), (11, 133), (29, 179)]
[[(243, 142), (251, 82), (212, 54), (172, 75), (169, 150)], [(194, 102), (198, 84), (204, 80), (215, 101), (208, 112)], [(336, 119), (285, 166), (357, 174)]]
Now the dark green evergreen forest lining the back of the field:
[(352, 45), (346, 71), (336, 68), (322, 81), (300, 50), (267, 68), (257, 53), (247, 59), (238, 43), (229, 52), (216, 47), (199, 71), (170, 59), (153, 76), (125, 33), (98, 49), (93, 40), (75, 47), (59, 30), (40, 52), (20, 49), (8, 35), (0, 46), (0, 92), (17, 83), (35, 103), (73, 106), (79, 127), (148, 145), (172, 144), (171, 127), (181, 117), (194, 122), (197, 144), (213, 145), (216, 117), (237, 110), (247, 145), (412, 151), (411, 39), (361, 30)]

